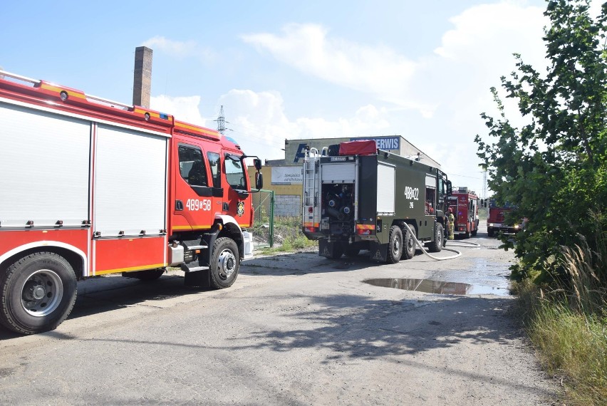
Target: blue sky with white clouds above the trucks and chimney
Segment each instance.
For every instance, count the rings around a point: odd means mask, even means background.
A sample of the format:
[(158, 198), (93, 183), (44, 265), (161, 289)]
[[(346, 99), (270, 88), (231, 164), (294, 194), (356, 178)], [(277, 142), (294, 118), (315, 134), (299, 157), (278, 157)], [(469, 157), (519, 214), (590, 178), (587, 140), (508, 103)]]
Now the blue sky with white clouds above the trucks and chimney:
[(130, 103), (137, 46), (152, 108), (249, 155), (284, 139), (403, 135), (482, 192), (474, 135), (512, 53), (545, 66), (539, 0), (28, 1), (1, 6), (0, 66)]

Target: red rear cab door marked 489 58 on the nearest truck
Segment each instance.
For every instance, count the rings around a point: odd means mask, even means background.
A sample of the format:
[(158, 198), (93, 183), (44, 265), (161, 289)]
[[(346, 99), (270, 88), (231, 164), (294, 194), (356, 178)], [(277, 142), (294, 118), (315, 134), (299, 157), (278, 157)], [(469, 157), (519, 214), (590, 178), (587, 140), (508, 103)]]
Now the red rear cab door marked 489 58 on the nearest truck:
[[(174, 138), (172, 162), (173, 229), (175, 231), (210, 229), (214, 222), (214, 194), (219, 194), (212, 184), (209, 162), (202, 145)], [(221, 199), (221, 197), (219, 197)]]

